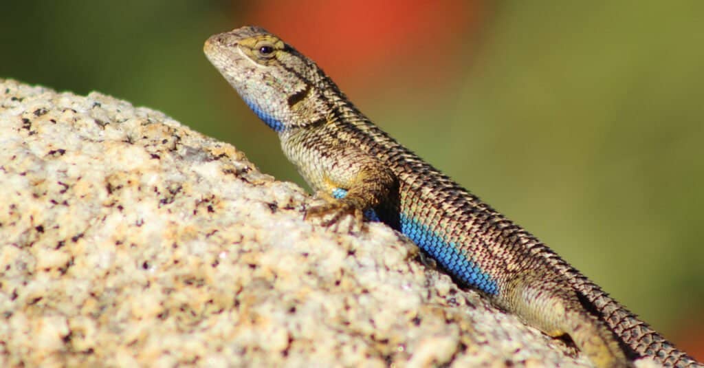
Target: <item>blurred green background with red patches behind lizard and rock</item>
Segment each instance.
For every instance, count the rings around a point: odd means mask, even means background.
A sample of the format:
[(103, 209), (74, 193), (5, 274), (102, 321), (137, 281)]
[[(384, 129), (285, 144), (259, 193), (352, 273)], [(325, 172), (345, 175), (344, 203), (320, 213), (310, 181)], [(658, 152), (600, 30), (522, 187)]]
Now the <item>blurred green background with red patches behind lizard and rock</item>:
[(304, 185), (203, 42), (260, 25), (704, 359), (704, 2), (5, 1), (0, 78), (148, 106)]

